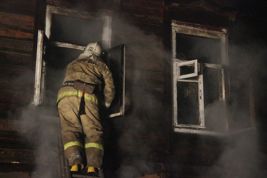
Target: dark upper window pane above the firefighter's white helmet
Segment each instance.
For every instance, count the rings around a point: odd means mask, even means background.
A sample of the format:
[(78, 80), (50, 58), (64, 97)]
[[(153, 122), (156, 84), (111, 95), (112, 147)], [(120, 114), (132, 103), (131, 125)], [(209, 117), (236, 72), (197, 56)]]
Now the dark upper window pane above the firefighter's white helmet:
[(103, 24), (100, 21), (52, 14), (51, 41), (86, 46), (101, 42)]

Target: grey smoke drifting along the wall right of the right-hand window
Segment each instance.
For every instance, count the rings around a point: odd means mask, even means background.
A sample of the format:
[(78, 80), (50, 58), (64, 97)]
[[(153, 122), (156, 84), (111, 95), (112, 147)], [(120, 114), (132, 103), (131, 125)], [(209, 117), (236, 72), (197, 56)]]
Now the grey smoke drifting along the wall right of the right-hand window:
[[(230, 77), (230, 105), (228, 105), (226, 116), (230, 118), (229, 134), (225, 140), (225, 145), (220, 157), (215, 161), (211, 171), (206, 177), (266, 177), (266, 151), (263, 144), (263, 136), (266, 132), (262, 125), (264, 117), (257, 109), (262, 105), (262, 97), (266, 97), (263, 92), (266, 87), (265, 59), (267, 48), (261, 40), (250, 41), (248, 44), (229, 45), (230, 65), (236, 65)], [(246, 67), (244, 67), (246, 65)], [(250, 78), (252, 80), (250, 80)], [(250, 113), (251, 102), (248, 97), (248, 83), (253, 85), (253, 98), (256, 111), (256, 121), (251, 122), (253, 113)], [(247, 89), (246, 89), (247, 88)], [(251, 97), (251, 95), (250, 95)], [(221, 115), (223, 107), (218, 101), (210, 103), (205, 107), (206, 116), (216, 118), (208, 120), (208, 126), (219, 130), (218, 126), (223, 125)], [(214, 117), (216, 116), (216, 117)], [(218, 117), (217, 117), (218, 116)], [(255, 125), (254, 125), (255, 124)], [(251, 126), (255, 126), (250, 130)]]

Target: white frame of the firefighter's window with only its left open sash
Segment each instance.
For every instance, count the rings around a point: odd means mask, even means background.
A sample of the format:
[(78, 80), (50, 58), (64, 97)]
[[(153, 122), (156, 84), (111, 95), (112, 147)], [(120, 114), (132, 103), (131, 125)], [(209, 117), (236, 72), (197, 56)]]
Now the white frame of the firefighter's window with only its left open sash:
[[(38, 42), (37, 42), (37, 56), (36, 56), (36, 68), (35, 68), (35, 85), (34, 85), (34, 100), (35, 106), (42, 104), (42, 98), (44, 96), (44, 76), (45, 76), (45, 61), (42, 60), (43, 55), (43, 40), (44, 35), (49, 39), (51, 34), (52, 14), (67, 15), (72, 17), (78, 17), (83, 19), (97, 20), (103, 22), (102, 31), (102, 47), (108, 49), (111, 47), (111, 22), (112, 17), (109, 15), (96, 15), (85, 11), (76, 11), (72, 9), (61, 8), (57, 6), (46, 6), (45, 13), (45, 33), (42, 30), (38, 31)], [(75, 14), (75, 15), (74, 15)], [(86, 46), (68, 44), (62, 42), (50, 42), (51, 45), (58, 47), (67, 47), (78, 50), (84, 50)], [(43, 69), (43, 72), (42, 72)]]

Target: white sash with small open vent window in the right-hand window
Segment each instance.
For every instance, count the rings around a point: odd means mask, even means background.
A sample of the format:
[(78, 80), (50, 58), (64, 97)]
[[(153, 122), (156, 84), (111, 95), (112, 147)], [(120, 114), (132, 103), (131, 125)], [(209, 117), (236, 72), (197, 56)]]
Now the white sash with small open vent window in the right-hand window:
[(202, 64), (197, 60), (172, 60), (174, 129), (205, 128)]

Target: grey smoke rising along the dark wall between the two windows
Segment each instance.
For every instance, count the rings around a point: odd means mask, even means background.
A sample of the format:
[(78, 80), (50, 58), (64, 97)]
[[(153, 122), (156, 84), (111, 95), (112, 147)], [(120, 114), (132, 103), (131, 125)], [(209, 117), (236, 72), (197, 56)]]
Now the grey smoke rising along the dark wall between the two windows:
[[(154, 96), (162, 95), (164, 91), (161, 78), (164, 71), (162, 59), (166, 52), (160, 37), (131, 24), (129, 20), (115, 18), (112, 26), (116, 39), (114, 46), (124, 43), (126, 47), (126, 116), (121, 118), (119, 131), (122, 133), (118, 138), (118, 149), (124, 155), (120, 155), (117, 177), (139, 177), (153, 170), (148, 155), (153, 154), (151, 148), (158, 141), (156, 136), (164, 133), (163, 101)], [(155, 69), (158, 71), (151, 75), (149, 70)], [(153, 109), (155, 106), (159, 109)]]

